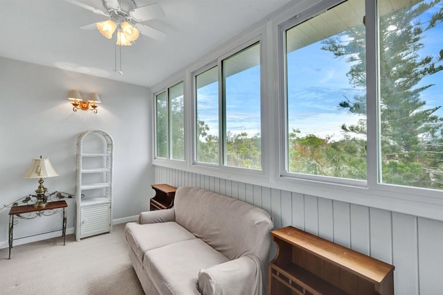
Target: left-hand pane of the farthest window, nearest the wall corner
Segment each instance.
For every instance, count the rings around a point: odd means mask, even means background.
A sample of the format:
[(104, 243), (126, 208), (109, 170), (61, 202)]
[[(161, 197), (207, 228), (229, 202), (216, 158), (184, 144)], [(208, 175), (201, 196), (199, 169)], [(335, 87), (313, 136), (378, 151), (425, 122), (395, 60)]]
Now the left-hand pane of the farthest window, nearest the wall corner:
[(156, 156), (168, 157), (168, 109), (166, 92), (156, 96)]

